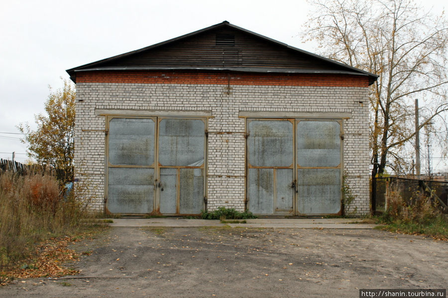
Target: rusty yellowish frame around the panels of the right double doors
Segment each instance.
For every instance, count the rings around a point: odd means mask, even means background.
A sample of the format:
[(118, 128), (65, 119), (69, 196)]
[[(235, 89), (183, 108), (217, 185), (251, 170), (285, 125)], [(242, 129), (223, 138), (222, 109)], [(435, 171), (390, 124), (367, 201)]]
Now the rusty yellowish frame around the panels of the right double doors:
[[(297, 202), (298, 202), (298, 200), (299, 200), (299, 197), (298, 197), (298, 189), (297, 189), (297, 184), (298, 184), (298, 177), (297, 177), (297, 174), (298, 174), (298, 169), (307, 169), (307, 168), (310, 168), (310, 169), (314, 169), (314, 168), (316, 168), (316, 169), (339, 169), (339, 181), (340, 181), (340, 189), (341, 189), (341, 187), (342, 187), (342, 176), (343, 176), (343, 142), (342, 142), (342, 140), (343, 140), (343, 119), (344, 118), (339, 118), (339, 119), (328, 119), (328, 118), (313, 118), (313, 119), (310, 119), (310, 118), (250, 118), (250, 117), (244, 117), (244, 118), (246, 118), (245, 120), (245, 130), (246, 130), (246, 136), (248, 137), (249, 136), (249, 134), (250, 134), (250, 132), (249, 132), (249, 123), (251, 122), (251, 121), (289, 121), (289, 122), (291, 122), (292, 123), (292, 125), (293, 125), (293, 163), (292, 163), (292, 165), (291, 166), (289, 166), (289, 167), (257, 167), (257, 166), (252, 166), (250, 163), (249, 163), (249, 149), (248, 149), (248, 142), (247, 142), (247, 137), (246, 137), (246, 146), (245, 146), (245, 152), (246, 152), (246, 154), (245, 154), (245, 160), (246, 160), (246, 167), (245, 167), (245, 171), (246, 171), (246, 174), (245, 174), (245, 176), (246, 176), (246, 179), (245, 179), (245, 203), (246, 203), (246, 209), (248, 209), (248, 206), (249, 206), (249, 200), (250, 200), (250, 198), (249, 198), (249, 191), (248, 191), (248, 189), (249, 189), (249, 181), (248, 181), (248, 179), (249, 179), (249, 169), (250, 168), (273, 168), (274, 169), (274, 177), (276, 177), (276, 174), (275, 174), (275, 170), (277, 169), (277, 168), (279, 168), (279, 169), (281, 169), (281, 168), (288, 168), (288, 169), (293, 169), (293, 177), (292, 177), (292, 179), (293, 179), (293, 183), (294, 183), (294, 194), (293, 194), (293, 209), (292, 209), (292, 212), (290, 212), (290, 213), (292, 213), (292, 214), (289, 214), (289, 215), (295, 215), (295, 216), (300, 216), (300, 215), (305, 215), (305, 214), (299, 214), (299, 212), (298, 212), (298, 207), (297, 207)], [(338, 124), (339, 124), (339, 137), (340, 137), (340, 140), (341, 140), (341, 142), (340, 142), (340, 162), (339, 162), (339, 164), (337, 165), (337, 166), (332, 166), (332, 167), (301, 167), (300, 165), (298, 165), (297, 164), (297, 161), (296, 161), (296, 154), (297, 154), (297, 148), (296, 148), (296, 146), (297, 146), (297, 140), (296, 140), (296, 138), (297, 138), (297, 134), (296, 134), (296, 130), (297, 130), (297, 124), (299, 123), (299, 122), (301, 122), (301, 121), (335, 121), (335, 122), (337, 122)], [(275, 179), (275, 178), (274, 178)], [(276, 184), (276, 181), (274, 181), (274, 185)], [(274, 204), (274, 206), (276, 206), (276, 192), (274, 191), (274, 202), (273, 202), (273, 204)], [(341, 206), (341, 205), (340, 205)], [(250, 210), (249, 210), (250, 211)], [(288, 215), (288, 214), (284, 214), (284, 213), (282, 213), (281, 211), (280, 212), (278, 212), (278, 213), (276, 213), (275, 212), (276, 210), (275, 210), (275, 207), (274, 207), (274, 210), (273, 210), (273, 213), (272, 213), (272, 215), (273, 216), (275, 216), (275, 215)], [(340, 214), (340, 212), (341, 211), (339, 211), (338, 213), (336, 213), (336, 214)], [(328, 215), (328, 214), (313, 214), (313, 215)], [(331, 215), (334, 215), (334, 214), (331, 214)]]

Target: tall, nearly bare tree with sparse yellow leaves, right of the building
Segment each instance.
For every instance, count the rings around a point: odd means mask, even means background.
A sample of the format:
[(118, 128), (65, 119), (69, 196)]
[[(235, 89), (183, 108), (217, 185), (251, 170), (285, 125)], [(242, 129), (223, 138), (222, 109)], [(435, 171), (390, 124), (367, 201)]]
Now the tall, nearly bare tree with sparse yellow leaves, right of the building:
[[(415, 136), (435, 118), (445, 125), (448, 23), (412, 0), (317, 0), (303, 37), (319, 42), (330, 59), (380, 75), (370, 87), (372, 176), (386, 167), (403, 172)], [(445, 126), (446, 128), (446, 126)], [(439, 137), (445, 136), (444, 134)], [(409, 168), (409, 167), (408, 167)]]

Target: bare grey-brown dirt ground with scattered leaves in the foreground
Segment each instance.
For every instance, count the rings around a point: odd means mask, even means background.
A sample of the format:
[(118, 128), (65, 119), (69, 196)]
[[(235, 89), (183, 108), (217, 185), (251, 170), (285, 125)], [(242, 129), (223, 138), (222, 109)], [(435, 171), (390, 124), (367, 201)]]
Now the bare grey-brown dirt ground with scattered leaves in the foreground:
[[(358, 297), (447, 287), (448, 242), (362, 229), (112, 227), (74, 245), (81, 271), (0, 297)], [(91, 253), (87, 255), (87, 253)]]

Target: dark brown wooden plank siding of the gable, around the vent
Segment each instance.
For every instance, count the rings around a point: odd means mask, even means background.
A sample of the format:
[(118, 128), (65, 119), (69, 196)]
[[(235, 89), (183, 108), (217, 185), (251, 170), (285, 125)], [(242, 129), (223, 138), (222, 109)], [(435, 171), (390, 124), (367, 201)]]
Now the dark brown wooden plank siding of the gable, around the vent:
[[(234, 46), (217, 45), (217, 34), (234, 35)], [(101, 67), (144, 66), (343, 70), (334, 64), (230, 27), (209, 30), (101, 64)]]

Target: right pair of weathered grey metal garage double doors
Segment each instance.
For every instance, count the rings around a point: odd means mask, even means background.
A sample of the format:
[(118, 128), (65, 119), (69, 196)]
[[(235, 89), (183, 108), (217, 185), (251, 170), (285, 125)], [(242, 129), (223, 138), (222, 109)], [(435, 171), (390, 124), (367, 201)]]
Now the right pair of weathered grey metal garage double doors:
[(257, 215), (340, 212), (337, 120), (247, 120), (248, 209)]

